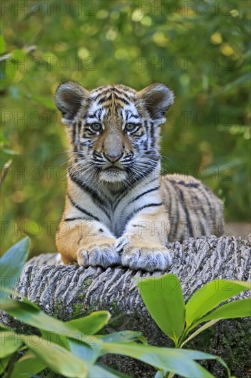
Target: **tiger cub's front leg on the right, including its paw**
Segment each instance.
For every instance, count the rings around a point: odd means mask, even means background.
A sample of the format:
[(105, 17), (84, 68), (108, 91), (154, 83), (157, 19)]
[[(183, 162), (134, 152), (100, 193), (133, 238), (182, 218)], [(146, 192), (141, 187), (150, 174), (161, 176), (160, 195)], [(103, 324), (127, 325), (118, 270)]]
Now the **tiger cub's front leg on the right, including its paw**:
[(169, 250), (165, 247), (168, 230), (168, 214), (163, 205), (136, 214), (123, 236), (117, 239), (122, 265), (147, 271), (167, 269), (171, 265)]

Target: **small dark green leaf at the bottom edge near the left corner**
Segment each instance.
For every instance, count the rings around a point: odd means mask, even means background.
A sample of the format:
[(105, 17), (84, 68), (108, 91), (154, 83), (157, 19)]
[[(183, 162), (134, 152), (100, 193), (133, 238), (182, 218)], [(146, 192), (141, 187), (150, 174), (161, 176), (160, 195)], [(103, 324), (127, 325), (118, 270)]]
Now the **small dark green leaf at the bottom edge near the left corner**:
[(32, 351), (27, 351), (14, 365), (11, 378), (29, 377), (45, 369), (45, 365)]

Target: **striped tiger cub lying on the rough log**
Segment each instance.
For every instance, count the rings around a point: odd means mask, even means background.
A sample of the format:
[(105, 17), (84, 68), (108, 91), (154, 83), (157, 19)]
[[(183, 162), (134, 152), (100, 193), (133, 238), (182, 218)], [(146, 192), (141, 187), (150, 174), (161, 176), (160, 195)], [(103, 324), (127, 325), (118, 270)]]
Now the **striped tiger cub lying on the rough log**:
[(64, 264), (165, 270), (167, 241), (221, 235), (222, 203), (200, 181), (160, 175), (160, 124), (174, 101), (160, 83), (142, 91), (62, 83), (56, 107), (67, 124), (66, 204), (56, 234)]

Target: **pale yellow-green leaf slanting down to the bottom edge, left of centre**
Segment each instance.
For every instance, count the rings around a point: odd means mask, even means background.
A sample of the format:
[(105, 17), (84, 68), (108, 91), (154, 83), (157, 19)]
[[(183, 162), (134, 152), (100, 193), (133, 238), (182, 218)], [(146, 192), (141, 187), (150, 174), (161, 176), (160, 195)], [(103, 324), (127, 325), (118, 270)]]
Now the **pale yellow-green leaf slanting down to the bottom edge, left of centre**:
[(56, 373), (64, 377), (84, 378), (87, 377), (86, 362), (73, 353), (53, 342), (48, 343), (42, 337), (23, 335), (23, 341), (39, 359)]

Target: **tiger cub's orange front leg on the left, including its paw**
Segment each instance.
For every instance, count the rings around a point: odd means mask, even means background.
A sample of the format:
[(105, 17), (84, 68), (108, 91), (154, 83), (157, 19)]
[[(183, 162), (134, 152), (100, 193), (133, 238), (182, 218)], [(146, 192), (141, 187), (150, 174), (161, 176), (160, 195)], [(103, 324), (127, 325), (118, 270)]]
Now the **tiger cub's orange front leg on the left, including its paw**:
[(56, 234), (63, 263), (84, 267), (119, 265), (121, 258), (115, 251), (115, 241), (108, 227), (98, 221), (61, 221)]

